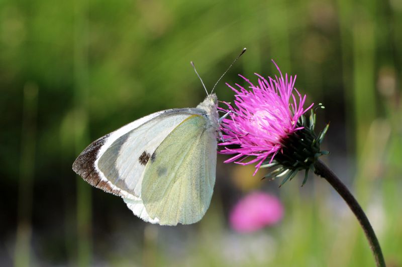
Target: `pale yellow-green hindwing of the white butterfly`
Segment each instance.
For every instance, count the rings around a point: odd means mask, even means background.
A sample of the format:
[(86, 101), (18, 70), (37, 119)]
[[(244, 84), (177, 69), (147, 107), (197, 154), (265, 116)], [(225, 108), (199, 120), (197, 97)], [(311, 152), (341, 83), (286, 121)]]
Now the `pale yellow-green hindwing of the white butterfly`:
[(181, 122), (148, 161), (142, 181), (144, 206), (159, 224), (189, 224), (207, 211), (215, 184), (215, 133), (204, 116)]

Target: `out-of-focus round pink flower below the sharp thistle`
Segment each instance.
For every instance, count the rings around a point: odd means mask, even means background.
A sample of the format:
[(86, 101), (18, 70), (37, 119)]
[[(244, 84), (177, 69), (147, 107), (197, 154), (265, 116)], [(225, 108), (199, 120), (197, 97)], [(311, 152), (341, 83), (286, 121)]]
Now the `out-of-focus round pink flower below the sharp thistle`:
[(277, 223), (283, 216), (283, 206), (273, 195), (254, 192), (241, 199), (229, 215), (231, 227), (238, 232), (253, 232)]

